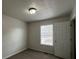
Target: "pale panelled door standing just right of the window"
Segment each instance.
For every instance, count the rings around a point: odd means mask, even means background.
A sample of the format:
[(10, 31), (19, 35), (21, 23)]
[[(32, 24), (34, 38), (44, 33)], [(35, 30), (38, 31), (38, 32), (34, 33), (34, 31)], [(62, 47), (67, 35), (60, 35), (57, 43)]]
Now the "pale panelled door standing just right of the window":
[(70, 59), (70, 22), (54, 24), (54, 53), (64, 59)]

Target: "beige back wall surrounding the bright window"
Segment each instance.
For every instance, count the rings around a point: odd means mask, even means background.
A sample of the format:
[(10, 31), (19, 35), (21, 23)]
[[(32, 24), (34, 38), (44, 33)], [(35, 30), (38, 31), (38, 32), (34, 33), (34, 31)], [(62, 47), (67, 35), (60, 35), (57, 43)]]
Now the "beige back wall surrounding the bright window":
[[(39, 22), (31, 22), (28, 24), (28, 47), (35, 50), (40, 50), (43, 52), (48, 52), (54, 54), (54, 46), (44, 46), (40, 44), (40, 26), (41, 25), (48, 25), (53, 24), (55, 27), (55, 23), (62, 23), (68, 21), (68, 17), (58, 18), (54, 20), (46, 20), (46, 21), (39, 21)], [(55, 32), (55, 29), (53, 30)], [(55, 34), (53, 39), (55, 40)], [(58, 37), (59, 38), (59, 37)]]

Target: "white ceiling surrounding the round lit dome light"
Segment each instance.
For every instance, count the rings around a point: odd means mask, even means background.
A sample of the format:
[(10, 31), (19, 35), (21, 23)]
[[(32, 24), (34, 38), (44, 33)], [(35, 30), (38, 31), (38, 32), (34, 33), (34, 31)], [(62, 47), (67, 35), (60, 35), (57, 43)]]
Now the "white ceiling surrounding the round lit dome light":
[[(3, 0), (3, 14), (24, 21), (38, 21), (68, 15), (74, 7), (75, 0)], [(37, 9), (29, 14), (28, 9)]]

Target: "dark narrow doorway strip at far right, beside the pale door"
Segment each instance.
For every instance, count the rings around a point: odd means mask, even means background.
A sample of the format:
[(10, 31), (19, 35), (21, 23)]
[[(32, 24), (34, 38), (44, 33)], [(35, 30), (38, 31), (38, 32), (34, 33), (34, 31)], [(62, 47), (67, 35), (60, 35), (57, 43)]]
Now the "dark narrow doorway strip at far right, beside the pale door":
[(76, 59), (76, 21), (71, 21), (71, 58)]

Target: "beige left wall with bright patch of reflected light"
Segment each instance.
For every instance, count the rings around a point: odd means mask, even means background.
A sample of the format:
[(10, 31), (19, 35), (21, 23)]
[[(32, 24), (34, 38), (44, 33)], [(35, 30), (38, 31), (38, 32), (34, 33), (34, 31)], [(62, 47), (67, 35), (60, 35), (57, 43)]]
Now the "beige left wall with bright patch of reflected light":
[(27, 24), (21, 20), (2, 16), (3, 59), (27, 49)]

